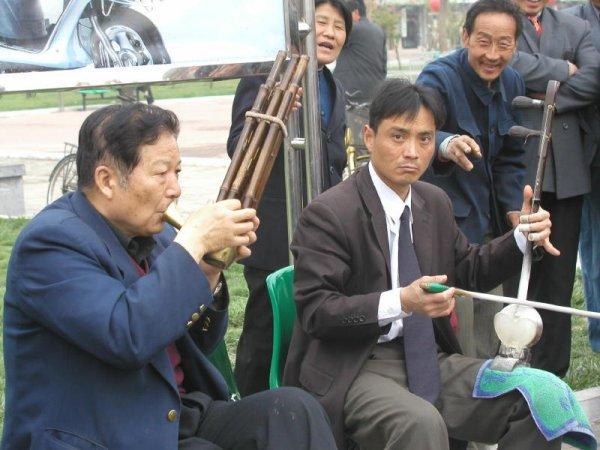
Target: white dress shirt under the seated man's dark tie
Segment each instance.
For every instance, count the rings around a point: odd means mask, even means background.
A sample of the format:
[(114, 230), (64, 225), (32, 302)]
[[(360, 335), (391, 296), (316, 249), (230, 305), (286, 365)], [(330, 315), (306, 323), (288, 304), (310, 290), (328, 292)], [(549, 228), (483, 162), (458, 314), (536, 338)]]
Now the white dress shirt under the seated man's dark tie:
[[(410, 209), (410, 235), (412, 239), (412, 188), (409, 188), (406, 200), (402, 200), (383, 180), (377, 175), (373, 165), (369, 163), (369, 174), (375, 185), (375, 190), (383, 211), (385, 213), (385, 223), (387, 227), (388, 245), (390, 250), (390, 279), (392, 280), (392, 289), (381, 293), (379, 297), (379, 308), (377, 311), (377, 320), (380, 327), (392, 324), (387, 334), (379, 336), (378, 343), (388, 342), (398, 336), (402, 336), (402, 319), (410, 316), (410, 313), (402, 311), (402, 300), (400, 298), (400, 288), (398, 283), (398, 234), (400, 231), (400, 216), (404, 212), (404, 207)], [(522, 253), (525, 253), (526, 239), (523, 233), (517, 228), (514, 230), (515, 240)], [(443, 274), (439, 274), (443, 275)]]

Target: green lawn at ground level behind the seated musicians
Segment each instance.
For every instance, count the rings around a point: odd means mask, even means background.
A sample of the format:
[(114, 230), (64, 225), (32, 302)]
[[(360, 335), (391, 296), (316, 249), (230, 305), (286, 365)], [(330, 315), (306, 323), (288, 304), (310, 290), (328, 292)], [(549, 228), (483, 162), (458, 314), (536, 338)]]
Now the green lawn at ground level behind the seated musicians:
[[(12, 245), (26, 223), (27, 220), (25, 219), (0, 219), (0, 298), (4, 298), (6, 269)], [(248, 296), (242, 270), (242, 266), (236, 264), (226, 272), (231, 302), (229, 306), (229, 329), (225, 336), (225, 343), (232, 362), (235, 361), (235, 347), (242, 331), (244, 307)], [(579, 274), (573, 290), (572, 303), (576, 308), (583, 308), (583, 293)], [(4, 304), (0, 303), (0, 311), (3, 307)], [(0, 321), (0, 331), (1, 329), (2, 323)], [(580, 317), (573, 317), (571, 368), (565, 381), (574, 390), (600, 386), (600, 354), (594, 353), (590, 349), (587, 337), (587, 321)], [(4, 361), (2, 359), (0, 359), (0, 399), (1, 431), (4, 417)]]

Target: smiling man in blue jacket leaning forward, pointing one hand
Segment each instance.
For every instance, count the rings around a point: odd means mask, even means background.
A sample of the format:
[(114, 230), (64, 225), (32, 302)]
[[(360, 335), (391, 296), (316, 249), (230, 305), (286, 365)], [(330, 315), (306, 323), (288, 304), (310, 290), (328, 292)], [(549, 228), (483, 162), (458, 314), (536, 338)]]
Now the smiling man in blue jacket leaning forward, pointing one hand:
[[(518, 218), (525, 153), (508, 130), (518, 119), (511, 102), (525, 95), (525, 84), (508, 64), (520, 33), (520, 12), (511, 1), (480, 0), (467, 12), (464, 48), (431, 62), (417, 79), (441, 95), (447, 113), (436, 133), (438, 159), (423, 179), (448, 194), (458, 226), (473, 243), (504, 234)], [(496, 354), (492, 322), (500, 307), (461, 302), (459, 332), (466, 354)]]

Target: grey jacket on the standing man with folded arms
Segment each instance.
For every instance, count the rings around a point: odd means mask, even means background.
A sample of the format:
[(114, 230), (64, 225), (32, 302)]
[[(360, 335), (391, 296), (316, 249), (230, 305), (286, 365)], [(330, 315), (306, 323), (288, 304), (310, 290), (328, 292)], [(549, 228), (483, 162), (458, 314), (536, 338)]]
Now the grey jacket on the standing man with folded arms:
[[(593, 46), (590, 25), (571, 14), (544, 8), (543, 32), (538, 44), (531, 22), (525, 16), (522, 22), (523, 34), (518, 40), (520, 52), (513, 58), (512, 65), (523, 76), (529, 92), (543, 93), (548, 80), (564, 80), (566, 61), (578, 67), (575, 75), (563, 81), (557, 95), (543, 190), (555, 192), (559, 199), (585, 194), (590, 190), (592, 156), (585, 132), (586, 118), (589, 107), (600, 97), (600, 55)], [(539, 110), (524, 110), (523, 125), (539, 129), (541, 117)], [(525, 181), (529, 184), (535, 180), (537, 147), (538, 139), (529, 139), (525, 147)]]

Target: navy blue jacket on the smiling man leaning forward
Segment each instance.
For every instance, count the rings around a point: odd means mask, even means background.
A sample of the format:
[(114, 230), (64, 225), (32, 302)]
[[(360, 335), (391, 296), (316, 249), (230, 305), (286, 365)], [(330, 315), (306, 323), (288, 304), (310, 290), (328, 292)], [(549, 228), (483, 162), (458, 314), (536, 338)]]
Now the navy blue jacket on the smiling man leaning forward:
[[(483, 148), (482, 134), (467, 101), (462, 77), (469, 71), (467, 85), (476, 80), (481, 84), (475, 89), (480, 92), (485, 89), (489, 93), (486, 99), (491, 124), (488, 148)], [(501, 235), (508, 229), (506, 213), (520, 211), (523, 202), (522, 142), (508, 136), (508, 129), (517, 124), (517, 117), (510, 108), (512, 99), (525, 95), (521, 76), (506, 67), (498, 79), (499, 95), (491, 96), (491, 90), (468, 64), (466, 49), (461, 49), (425, 66), (417, 83), (434, 88), (446, 107), (446, 122), (436, 134), (436, 148), (450, 135), (466, 134), (477, 141), (483, 153), (482, 159), (472, 160), (474, 168), (471, 172), (454, 163), (434, 163), (423, 180), (441, 187), (448, 194), (456, 221), (470, 242), (482, 243), (489, 231), (494, 236)]]

